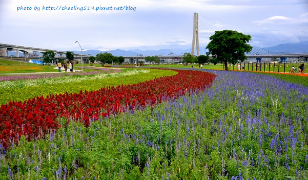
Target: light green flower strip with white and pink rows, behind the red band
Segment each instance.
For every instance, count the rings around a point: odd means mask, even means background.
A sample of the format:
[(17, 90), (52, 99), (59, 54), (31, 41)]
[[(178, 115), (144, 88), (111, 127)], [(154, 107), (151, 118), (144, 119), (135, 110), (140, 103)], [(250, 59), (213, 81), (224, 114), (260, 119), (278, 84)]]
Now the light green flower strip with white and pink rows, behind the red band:
[[(82, 73), (56, 73), (38, 75), (4, 76), (7, 81), (0, 81), (0, 104), (10, 101), (25, 101), (36, 96), (50, 94), (78, 93), (84, 90), (98, 90), (105, 86), (117, 86), (144, 82), (155, 77), (175, 75), (175, 71), (146, 70), (126, 68), (120, 72), (104, 73), (92, 71)], [(146, 74), (146, 75), (141, 75)], [(122, 77), (126, 77), (122, 81)], [(3, 78), (2, 78), (3, 79)], [(11, 79), (11, 80), (10, 80)]]

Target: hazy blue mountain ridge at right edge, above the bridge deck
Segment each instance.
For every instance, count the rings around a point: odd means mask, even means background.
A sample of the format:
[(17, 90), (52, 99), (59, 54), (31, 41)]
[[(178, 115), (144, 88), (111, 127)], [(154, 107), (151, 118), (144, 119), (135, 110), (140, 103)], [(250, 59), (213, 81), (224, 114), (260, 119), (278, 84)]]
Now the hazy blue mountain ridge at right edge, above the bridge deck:
[(308, 52), (308, 42), (294, 43), (294, 44), (279, 44), (277, 46), (262, 48), (271, 54), (293, 54)]

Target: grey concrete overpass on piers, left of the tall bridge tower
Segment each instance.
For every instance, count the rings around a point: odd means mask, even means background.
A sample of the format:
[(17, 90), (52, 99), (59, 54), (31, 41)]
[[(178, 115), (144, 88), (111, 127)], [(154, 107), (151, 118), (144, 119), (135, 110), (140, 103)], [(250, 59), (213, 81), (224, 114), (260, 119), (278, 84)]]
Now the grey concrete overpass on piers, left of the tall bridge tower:
[[(32, 47), (26, 47), (26, 46), (17, 46), (17, 45), (9, 45), (9, 44), (0, 44), (0, 56), (8, 56), (8, 51), (15, 51), (16, 57), (19, 57), (19, 51), (24, 53), (24, 57), (28, 58), (29, 53), (33, 52), (40, 52), (44, 53), (45, 51), (53, 51), (55, 53), (56, 58), (66, 58), (64, 55), (66, 55), (66, 51), (57, 51), (52, 49), (42, 49), (42, 48), (32, 48)], [(57, 55), (59, 54), (59, 56)], [(74, 54), (74, 58), (81, 58), (81, 54)], [(90, 55), (84, 55), (83, 57), (89, 58)]]

